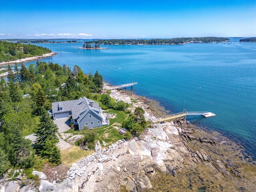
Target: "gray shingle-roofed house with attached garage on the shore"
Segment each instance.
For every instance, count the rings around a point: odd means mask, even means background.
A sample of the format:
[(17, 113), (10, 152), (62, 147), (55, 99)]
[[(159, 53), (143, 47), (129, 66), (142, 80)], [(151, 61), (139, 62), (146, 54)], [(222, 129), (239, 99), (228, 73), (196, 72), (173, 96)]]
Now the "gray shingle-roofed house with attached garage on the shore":
[(54, 120), (72, 117), (71, 122), (77, 124), (79, 130), (82, 130), (85, 126), (95, 128), (109, 124), (109, 120), (100, 108), (99, 103), (86, 97), (53, 102), (52, 116)]

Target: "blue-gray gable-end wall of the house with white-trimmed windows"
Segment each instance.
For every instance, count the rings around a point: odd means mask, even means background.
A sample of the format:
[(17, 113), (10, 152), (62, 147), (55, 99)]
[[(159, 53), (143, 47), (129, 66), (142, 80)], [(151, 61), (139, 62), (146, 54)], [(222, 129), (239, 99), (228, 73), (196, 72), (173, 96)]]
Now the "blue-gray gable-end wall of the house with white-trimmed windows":
[[(92, 115), (92, 118), (89, 118), (89, 115)], [(98, 124), (98, 120), (100, 120), (100, 123)], [(93, 122), (93, 125), (91, 125), (91, 122)], [(88, 123), (88, 125), (85, 125), (85, 123)], [(78, 123), (79, 130), (84, 129), (84, 126), (87, 126), (88, 128), (94, 128), (94, 127), (102, 127), (102, 118), (96, 115), (91, 110), (80, 120)]]

